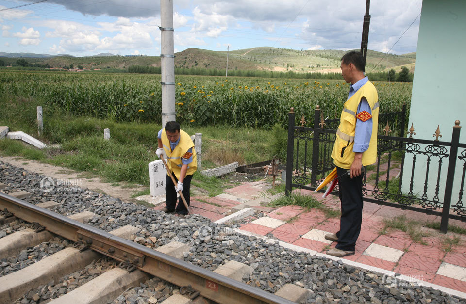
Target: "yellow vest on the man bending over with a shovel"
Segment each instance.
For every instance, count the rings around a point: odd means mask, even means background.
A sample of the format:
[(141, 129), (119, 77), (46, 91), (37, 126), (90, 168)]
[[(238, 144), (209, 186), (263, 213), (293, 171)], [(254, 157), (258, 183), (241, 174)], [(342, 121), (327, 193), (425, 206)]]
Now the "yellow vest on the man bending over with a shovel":
[[(173, 172), (178, 179), (180, 178), (181, 166), (183, 165), (181, 158), (189, 148), (193, 148), (193, 160), (188, 164), (186, 175), (194, 174), (198, 167), (198, 160), (196, 157), (196, 150), (194, 149), (194, 143), (186, 132), (180, 130), (180, 141), (175, 149), (171, 151), (170, 140), (166, 137), (166, 131), (164, 128), (162, 131), (162, 144), (164, 146), (164, 153), (168, 159), (168, 169)], [(168, 172), (166, 174), (168, 175)]]

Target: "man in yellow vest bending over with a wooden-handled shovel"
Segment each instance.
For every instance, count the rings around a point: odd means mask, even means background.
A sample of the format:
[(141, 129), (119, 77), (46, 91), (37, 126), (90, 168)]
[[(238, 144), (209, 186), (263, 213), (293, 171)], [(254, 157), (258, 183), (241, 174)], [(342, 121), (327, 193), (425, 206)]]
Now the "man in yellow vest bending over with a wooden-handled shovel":
[[(183, 204), (180, 197), (178, 205), (176, 205), (176, 193), (181, 191), (184, 199), (189, 206), (189, 189), (191, 187), (191, 179), (197, 169), (196, 150), (191, 137), (180, 129), (180, 124), (176, 121), (169, 121), (166, 123), (165, 128), (161, 129), (157, 135), (158, 148), (155, 154), (159, 158), (167, 158), (166, 168), (166, 181), (165, 181), (165, 194), (166, 194), (166, 207), (162, 209), (164, 212), (174, 212), (184, 218), (188, 214), (188, 210)], [(174, 185), (169, 176), (169, 172), (175, 176), (177, 184)]]

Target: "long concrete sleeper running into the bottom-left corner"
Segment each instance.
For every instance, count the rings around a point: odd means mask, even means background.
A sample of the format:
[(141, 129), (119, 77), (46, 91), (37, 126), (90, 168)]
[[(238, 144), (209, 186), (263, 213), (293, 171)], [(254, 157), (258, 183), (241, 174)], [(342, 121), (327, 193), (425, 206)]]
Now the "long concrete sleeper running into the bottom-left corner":
[(25, 292), (81, 269), (98, 257), (99, 254), (92, 250), (79, 252), (76, 248), (65, 248), (26, 268), (0, 277), (0, 299), (3, 303), (13, 303)]

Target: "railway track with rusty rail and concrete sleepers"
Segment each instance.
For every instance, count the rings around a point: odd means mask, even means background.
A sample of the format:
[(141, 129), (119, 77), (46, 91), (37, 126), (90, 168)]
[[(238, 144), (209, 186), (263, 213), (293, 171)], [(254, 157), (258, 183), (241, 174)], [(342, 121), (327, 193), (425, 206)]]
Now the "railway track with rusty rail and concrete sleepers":
[[(3, 193), (0, 193), (0, 208), (7, 210), (4, 211), (4, 215), (7, 216), (3, 217), (4, 222), (16, 217), (34, 223), (32, 229), (26, 228), (9, 235), (8, 238), (0, 239), (0, 258), (50, 240), (52, 235), (75, 244), (75, 247), (64, 248), (26, 268), (0, 277), (2, 303), (15, 303), (30, 290), (75, 272), (93, 260), (102, 258), (102, 255), (118, 261), (120, 267), (101, 274), (54, 301), (107, 303), (128, 287), (143, 283), (153, 275), (182, 287), (180, 293), (192, 298), (185, 297), (187, 300), (193, 300), (193, 296), (200, 295), (217, 303), (293, 303), (167, 255), (161, 252), (164, 251), (163, 248), (156, 251), (127, 240), (124, 237), (134, 231), (134, 227), (131, 226), (109, 233)], [(79, 218), (79, 215), (75, 215), (74, 218)], [(87, 216), (89, 217), (89, 214)], [(170, 244), (168, 245), (170, 248)], [(171, 247), (175, 248), (176, 245)]]

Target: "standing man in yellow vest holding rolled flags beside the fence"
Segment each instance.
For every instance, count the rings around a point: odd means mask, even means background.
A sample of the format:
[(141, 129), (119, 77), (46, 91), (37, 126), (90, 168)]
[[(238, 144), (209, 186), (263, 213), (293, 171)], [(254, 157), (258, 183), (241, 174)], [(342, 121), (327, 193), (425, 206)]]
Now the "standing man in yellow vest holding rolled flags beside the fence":
[(336, 241), (331, 256), (354, 255), (363, 216), (363, 166), (377, 159), (377, 90), (364, 76), (365, 62), (360, 52), (350, 51), (341, 58), (341, 74), (350, 83), (348, 100), (343, 106), (336, 131), (332, 158), (337, 168), (340, 189), (340, 231), (325, 239)]

